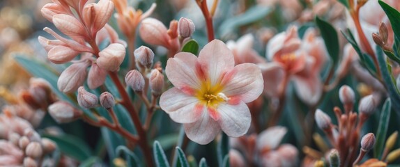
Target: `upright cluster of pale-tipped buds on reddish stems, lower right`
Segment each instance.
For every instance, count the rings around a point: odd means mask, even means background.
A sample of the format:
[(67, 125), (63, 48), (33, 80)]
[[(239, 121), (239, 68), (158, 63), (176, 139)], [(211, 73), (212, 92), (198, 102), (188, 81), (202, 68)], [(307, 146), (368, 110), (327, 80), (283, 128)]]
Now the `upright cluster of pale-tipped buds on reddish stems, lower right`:
[[(337, 153), (332, 153), (332, 156), (330, 156), (330, 159), (334, 161), (334, 164), (339, 162), (339, 164), (341, 163), (341, 165), (344, 166), (356, 165), (360, 162), (362, 157), (364, 157), (364, 154), (374, 147), (374, 134), (366, 134), (361, 140), (360, 154), (356, 159), (355, 156), (357, 153), (358, 141), (360, 140), (361, 127), (367, 118), (374, 113), (376, 106), (378, 106), (378, 103), (380, 102), (380, 95), (373, 94), (363, 97), (358, 106), (358, 115), (353, 112), (355, 93), (350, 86), (341, 86), (339, 89), (339, 99), (344, 105), (345, 112), (343, 113), (339, 107), (334, 108), (334, 114), (337, 118), (338, 126), (332, 125), (330, 116), (320, 109), (317, 109), (315, 113), (316, 124), (323, 130), (323, 132), (325, 132), (330, 140), (330, 144), (335, 148), (335, 150), (337, 150)], [(319, 148), (325, 148), (321, 146), (326, 145), (322, 139), (314, 138), (314, 140), (318, 143)], [(306, 154), (310, 152), (311, 151), (307, 151)], [(337, 156), (337, 154), (340, 156)], [(314, 157), (318, 158), (318, 156)], [(336, 157), (339, 157), (339, 159)], [(319, 162), (317, 161), (316, 163), (318, 164)]]

